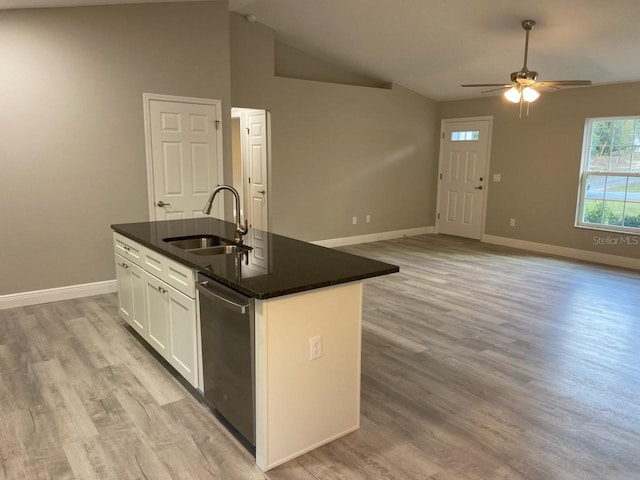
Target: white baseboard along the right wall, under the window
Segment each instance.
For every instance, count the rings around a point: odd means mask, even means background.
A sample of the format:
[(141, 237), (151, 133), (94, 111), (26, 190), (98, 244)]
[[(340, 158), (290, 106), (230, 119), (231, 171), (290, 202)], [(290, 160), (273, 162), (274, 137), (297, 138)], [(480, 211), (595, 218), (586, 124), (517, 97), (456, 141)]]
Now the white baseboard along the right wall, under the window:
[(502, 245), (504, 247), (519, 248), (521, 250), (530, 250), (532, 252), (546, 253), (548, 255), (557, 255), (560, 257), (568, 257), (586, 262), (602, 263), (614, 267), (632, 268), (640, 270), (640, 259), (631, 257), (621, 257), (611, 255), (609, 253), (591, 252), (589, 250), (579, 250), (577, 248), (559, 247), (557, 245), (549, 245), (546, 243), (528, 242), (526, 240), (517, 240), (515, 238), (498, 237), (495, 235), (483, 235), (482, 242), (492, 243), (494, 245)]

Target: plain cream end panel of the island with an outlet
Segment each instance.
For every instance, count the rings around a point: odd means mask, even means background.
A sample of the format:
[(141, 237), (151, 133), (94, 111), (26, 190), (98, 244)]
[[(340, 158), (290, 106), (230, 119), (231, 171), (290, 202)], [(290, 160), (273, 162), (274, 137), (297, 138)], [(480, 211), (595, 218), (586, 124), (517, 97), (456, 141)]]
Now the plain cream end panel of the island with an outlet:
[[(256, 463), (273, 468), (360, 427), (362, 282), (256, 301)], [(309, 339), (322, 337), (310, 360)]]

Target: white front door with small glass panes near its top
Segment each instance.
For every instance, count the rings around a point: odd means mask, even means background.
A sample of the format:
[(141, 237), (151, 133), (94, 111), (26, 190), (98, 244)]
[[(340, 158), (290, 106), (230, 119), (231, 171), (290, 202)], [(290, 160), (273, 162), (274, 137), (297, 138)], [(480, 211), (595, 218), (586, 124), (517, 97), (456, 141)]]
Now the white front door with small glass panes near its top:
[(443, 120), (438, 232), (477, 238), (484, 229), (491, 119)]

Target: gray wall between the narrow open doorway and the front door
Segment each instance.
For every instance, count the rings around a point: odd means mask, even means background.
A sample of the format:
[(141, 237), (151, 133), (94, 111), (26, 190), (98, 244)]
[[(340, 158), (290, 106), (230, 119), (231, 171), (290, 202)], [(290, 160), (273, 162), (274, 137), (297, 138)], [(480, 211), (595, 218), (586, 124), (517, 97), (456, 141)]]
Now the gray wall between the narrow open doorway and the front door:
[[(233, 105), (271, 112), (273, 231), (321, 240), (434, 224), (436, 102), (398, 86), (276, 77), (273, 31), (236, 14), (230, 30)], [(318, 71), (299, 53), (279, 65)]]

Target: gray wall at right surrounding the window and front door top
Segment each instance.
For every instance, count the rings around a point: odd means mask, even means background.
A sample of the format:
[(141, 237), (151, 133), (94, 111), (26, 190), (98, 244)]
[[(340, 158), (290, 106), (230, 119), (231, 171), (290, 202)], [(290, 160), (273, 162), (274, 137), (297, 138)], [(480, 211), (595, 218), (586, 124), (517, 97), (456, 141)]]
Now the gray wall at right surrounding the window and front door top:
[(638, 115), (638, 100), (640, 83), (566, 89), (543, 93), (522, 119), (499, 97), (441, 103), (442, 118), (494, 116), (491, 173), (502, 179), (489, 184), (485, 233), (640, 258), (636, 245), (594, 242), (619, 234), (574, 227), (586, 118)]

